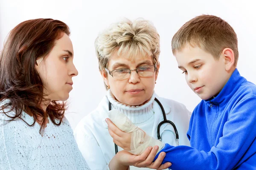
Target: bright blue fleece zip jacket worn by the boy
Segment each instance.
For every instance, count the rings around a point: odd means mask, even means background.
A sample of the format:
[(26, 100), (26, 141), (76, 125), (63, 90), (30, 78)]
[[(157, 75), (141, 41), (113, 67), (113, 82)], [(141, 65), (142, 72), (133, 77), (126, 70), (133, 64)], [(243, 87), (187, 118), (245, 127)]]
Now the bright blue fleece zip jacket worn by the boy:
[(197, 105), (187, 136), (191, 147), (160, 151), (172, 170), (256, 170), (256, 85), (236, 69), (215, 98)]

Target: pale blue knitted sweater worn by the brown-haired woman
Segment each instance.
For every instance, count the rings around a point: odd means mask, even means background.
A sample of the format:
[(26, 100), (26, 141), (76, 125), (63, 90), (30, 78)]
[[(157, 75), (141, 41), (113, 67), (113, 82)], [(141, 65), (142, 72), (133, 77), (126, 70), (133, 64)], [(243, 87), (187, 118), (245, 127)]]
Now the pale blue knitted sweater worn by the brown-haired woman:
[[(30, 125), (34, 121), (25, 112), (22, 118)], [(0, 170), (90, 170), (65, 117), (60, 126), (48, 118), (43, 135), (38, 123), (29, 126), (21, 119), (7, 122), (9, 119), (0, 113)]]

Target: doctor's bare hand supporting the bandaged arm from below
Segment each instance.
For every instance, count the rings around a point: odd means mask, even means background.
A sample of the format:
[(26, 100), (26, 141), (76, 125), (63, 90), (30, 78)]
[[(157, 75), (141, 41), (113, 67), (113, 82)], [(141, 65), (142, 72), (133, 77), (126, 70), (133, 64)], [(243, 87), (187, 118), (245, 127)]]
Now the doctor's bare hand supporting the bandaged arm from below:
[(119, 151), (113, 157), (113, 159), (109, 163), (110, 170), (126, 170), (129, 166), (135, 167), (147, 167), (151, 169), (163, 170), (170, 167), (172, 164), (170, 162), (166, 162), (162, 164), (166, 153), (162, 152), (159, 154), (158, 158), (154, 160), (154, 157), (157, 153), (158, 146), (148, 147), (141, 155), (132, 155), (126, 150)]

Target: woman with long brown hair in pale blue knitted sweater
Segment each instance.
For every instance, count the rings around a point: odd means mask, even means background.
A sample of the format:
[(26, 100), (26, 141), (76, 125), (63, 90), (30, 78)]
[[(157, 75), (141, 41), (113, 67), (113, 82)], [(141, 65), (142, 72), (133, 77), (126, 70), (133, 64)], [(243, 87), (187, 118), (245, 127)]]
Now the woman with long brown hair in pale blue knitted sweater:
[(89, 170), (64, 116), (78, 71), (69, 27), (27, 20), (0, 54), (0, 169)]

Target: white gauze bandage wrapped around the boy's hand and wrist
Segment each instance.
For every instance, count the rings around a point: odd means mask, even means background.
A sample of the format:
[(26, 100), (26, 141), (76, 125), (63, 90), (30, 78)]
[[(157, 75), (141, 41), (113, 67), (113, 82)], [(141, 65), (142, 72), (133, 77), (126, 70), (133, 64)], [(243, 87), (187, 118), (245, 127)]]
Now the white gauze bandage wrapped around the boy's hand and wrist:
[(131, 150), (128, 150), (134, 155), (140, 155), (149, 146), (157, 145), (159, 149), (157, 153), (165, 146), (161, 141), (148, 136), (143, 130), (135, 126), (124, 113), (113, 109), (108, 111), (108, 117), (122, 131), (131, 133)]

